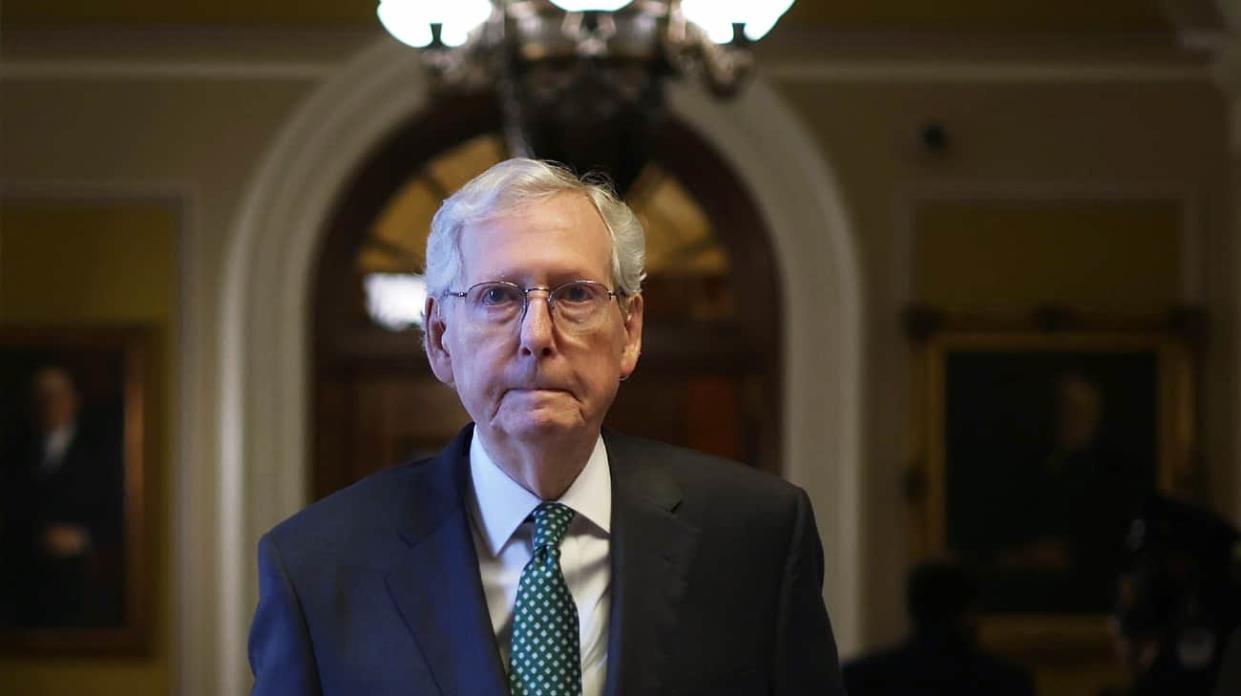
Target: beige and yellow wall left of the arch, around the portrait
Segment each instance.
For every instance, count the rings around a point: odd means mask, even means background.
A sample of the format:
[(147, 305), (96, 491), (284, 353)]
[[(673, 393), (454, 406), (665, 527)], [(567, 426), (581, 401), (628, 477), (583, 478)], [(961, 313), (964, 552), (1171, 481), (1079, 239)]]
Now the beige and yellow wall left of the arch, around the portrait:
[[(175, 692), (177, 620), (200, 604), (177, 596), (185, 450), (212, 438), (185, 422), (180, 401), (211, 375), (180, 367), (196, 341), (217, 337), (185, 328), (191, 314), (215, 311), (237, 199), (304, 86), (6, 79), (0, 89), (0, 321), (139, 321), (158, 326), (163, 346), (177, 346), (165, 352), (161, 457), (150, 468), (149, 654), (5, 658), (0, 694), (163, 696)], [(57, 292), (31, 290), (48, 280)]]

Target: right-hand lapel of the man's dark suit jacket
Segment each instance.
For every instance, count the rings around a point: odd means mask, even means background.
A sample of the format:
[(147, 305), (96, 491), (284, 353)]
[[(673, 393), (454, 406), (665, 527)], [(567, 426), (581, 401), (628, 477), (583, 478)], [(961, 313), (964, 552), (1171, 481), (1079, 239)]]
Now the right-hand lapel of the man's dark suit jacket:
[(612, 613), (606, 694), (658, 694), (699, 530), (680, 488), (644, 448), (604, 433), (612, 469)]

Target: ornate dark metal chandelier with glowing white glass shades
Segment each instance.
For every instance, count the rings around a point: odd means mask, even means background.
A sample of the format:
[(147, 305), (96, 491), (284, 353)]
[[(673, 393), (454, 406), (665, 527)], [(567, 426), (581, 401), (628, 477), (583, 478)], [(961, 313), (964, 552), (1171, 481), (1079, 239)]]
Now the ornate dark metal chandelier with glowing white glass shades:
[(658, 145), (664, 82), (737, 93), (793, 0), (381, 0), (442, 88), (493, 89), (515, 155), (603, 170), (622, 192)]

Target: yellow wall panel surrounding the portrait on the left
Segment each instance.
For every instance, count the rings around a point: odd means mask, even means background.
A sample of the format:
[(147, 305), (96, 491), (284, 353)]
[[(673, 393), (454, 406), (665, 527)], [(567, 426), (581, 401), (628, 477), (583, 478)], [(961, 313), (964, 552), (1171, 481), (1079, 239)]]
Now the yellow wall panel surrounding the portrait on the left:
[(164, 695), (171, 686), (169, 500), (176, 326), (176, 207), (160, 201), (6, 200), (0, 203), (0, 324), (141, 325), (155, 334), (146, 391), (148, 655), (0, 658), (0, 694)]

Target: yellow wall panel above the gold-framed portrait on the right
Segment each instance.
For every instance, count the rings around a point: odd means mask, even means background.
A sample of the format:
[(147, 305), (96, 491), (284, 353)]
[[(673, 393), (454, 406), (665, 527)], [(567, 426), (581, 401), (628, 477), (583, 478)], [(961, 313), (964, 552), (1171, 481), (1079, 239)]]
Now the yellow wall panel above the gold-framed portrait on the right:
[(1176, 201), (934, 201), (915, 215), (915, 297), (936, 308), (1158, 313), (1181, 298)]

